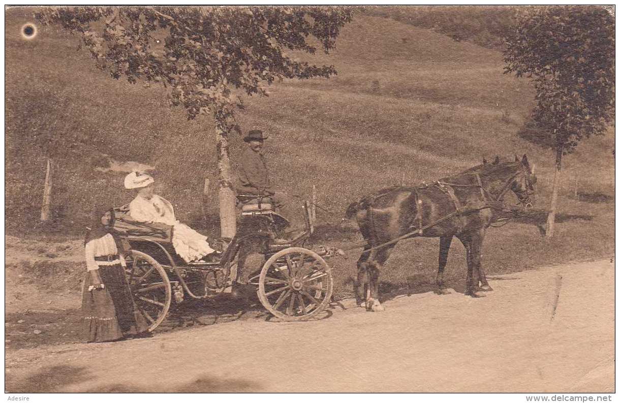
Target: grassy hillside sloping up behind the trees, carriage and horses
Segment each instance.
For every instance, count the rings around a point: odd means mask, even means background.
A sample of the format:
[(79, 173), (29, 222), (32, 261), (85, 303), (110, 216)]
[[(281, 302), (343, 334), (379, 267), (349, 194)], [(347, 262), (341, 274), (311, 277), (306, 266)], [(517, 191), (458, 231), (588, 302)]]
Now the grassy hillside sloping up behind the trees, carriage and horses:
[[(61, 234), (78, 236), (93, 206), (133, 197), (122, 188), (123, 174), (97, 170), (107, 165), (102, 154), (156, 167), (158, 192), (174, 202), (179, 218), (215, 231), (215, 202), (206, 209), (210, 220), (200, 222), (203, 178), (215, 182), (213, 122), (187, 121), (182, 110), (167, 106), (161, 89), (97, 71), (84, 51), (76, 51), (75, 37), (40, 27), (37, 38), (23, 40), (19, 28), (32, 20), (30, 14), (24, 7), (6, 11), (7, 230), (39, 234), (45, 157), (49, 149), (58, 150), (37, 146), (33, 133), (51, 142), (81, 133), (71, 153), (63, 146), (55, 159)], [(308, 195), (316, 185), (319, 203), (330, 210), (317, 211), (321, 223), (339, 223), (348, 203), (376, 188), (431, 181), (496, 154), (502, 159), (528, 154), (537, 165), (538, 202), (546, 205), (552, 153), (516, 136), (533, 91), (525, 80), (502, 74), (497, 51), (394, 19), (358, 15), (342, 30), (333, 53), (309, 60), (334, 64), (339, 75), (277, 84), (270, 97), (247, 99), (239, 122), (244, 131), (260, 128), (270, 135), (268, 160), (279, 188)], [(240, 138), (232, 139), (233, 157), (242, 146)], [(489, 272), (613, 253), (613, 147), (610, 129), (565, 158), (559, 202), (564, 219), (556, 239), (543, 241), (525, 224), (492, 230), (484, 258)], [(591, 202), (597, 193), (612, 202)], [(355, 239), (353, 232), (332, 235), (334, 244)], [(414, 255), (407, 246), (397, 248), (387, 280), (404, 281), (412, 265), (433, 272), (436, 240), (415, 242)], [(357, 255), (352, 256), (337, 261), (339, 286), (353, 274)], [(463, 264), (459, 256), (447, 270)]]

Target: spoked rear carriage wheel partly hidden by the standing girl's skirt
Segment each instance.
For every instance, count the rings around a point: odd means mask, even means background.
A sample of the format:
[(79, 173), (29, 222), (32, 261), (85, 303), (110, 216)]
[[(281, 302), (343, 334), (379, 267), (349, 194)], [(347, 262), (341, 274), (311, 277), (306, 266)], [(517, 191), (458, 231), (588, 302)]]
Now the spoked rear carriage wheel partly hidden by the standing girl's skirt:
[(125, 277), (133, 301), (149, 322), (149, 332), (152, 332), (164, 321), (172, 301), (166, 270), (153, 257), (139, 250), (130, 250)]

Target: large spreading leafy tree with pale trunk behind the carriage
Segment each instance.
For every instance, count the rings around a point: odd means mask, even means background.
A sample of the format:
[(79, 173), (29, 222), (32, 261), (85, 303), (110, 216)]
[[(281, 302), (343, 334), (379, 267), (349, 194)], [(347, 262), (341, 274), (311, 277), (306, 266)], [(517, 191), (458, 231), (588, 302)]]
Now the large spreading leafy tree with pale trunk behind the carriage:
[[(97, 68), (132, 84), (161, 84), (189, 119), (215, 120), (222, 236), (236, 232), (229, 136), (240, 128), (241, 95), (267, 95), (283, 79), (329, 78), (334, 66), (287, 51), (329, 53), (351, 7), (55, 7), (37, 14), (81, 35)], [(236, 91), (238, 89), (239, 91)]]

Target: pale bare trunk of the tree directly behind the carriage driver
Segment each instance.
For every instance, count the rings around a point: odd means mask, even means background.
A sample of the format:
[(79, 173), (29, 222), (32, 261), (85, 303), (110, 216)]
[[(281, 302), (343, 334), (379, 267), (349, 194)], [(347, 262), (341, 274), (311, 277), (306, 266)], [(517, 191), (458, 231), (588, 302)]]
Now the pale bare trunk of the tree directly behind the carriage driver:
[(219, 224), (221, 236), (232, 238), (237, 232), (235, 211), (234, 180), (232, 178), (231, 161), (228, 152), (228, 131), (216, 122), (215, 136), (218, 154), (219, 179)]

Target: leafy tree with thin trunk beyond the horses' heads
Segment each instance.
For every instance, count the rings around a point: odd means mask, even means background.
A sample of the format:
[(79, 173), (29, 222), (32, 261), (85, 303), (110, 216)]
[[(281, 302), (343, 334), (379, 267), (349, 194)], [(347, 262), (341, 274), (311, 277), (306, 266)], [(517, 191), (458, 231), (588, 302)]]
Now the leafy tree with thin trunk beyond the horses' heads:
[(540, 143), (555, 151), (547, 237), (554, 232), (562, 156), (614, 119), (614, 27), (604, 7), (531, 7), (506, 38), (505, 73), (533, 81), (533, 122), (544, 133)]

